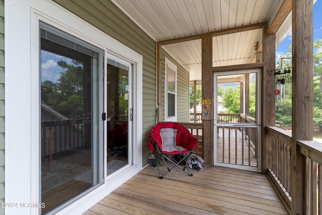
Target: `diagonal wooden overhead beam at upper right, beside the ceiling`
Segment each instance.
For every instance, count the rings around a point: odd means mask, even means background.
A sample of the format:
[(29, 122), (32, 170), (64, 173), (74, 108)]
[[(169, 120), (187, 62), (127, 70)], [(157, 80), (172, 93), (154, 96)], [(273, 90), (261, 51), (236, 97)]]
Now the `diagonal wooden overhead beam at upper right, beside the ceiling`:
[(287, 15), (292, 10), (292, 0), (284, 0), (282, 6), (278, 10), (273, 22), (267, 29), (267, 34), (275, 34), (277, 30), (281, 27)]

